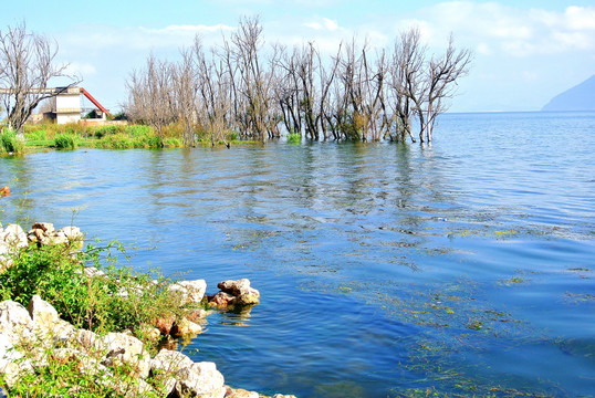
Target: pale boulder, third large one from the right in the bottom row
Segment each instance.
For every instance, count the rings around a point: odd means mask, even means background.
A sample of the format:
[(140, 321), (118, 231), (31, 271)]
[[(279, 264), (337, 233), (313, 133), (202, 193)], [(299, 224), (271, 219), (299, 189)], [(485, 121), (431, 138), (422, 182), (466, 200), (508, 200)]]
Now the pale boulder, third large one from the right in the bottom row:
[(128, 366), (131, 374), (146, 378), (149, 374), (150, 357), (143, 342), (125, 333), (108, 333), (101, 339), (102, 350), (106, 353), (106, 366)]

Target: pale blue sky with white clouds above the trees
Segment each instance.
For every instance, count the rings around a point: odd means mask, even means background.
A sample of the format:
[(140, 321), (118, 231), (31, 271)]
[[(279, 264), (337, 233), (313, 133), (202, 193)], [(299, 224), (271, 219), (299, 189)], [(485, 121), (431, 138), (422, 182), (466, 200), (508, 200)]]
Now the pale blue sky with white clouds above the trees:
[(552, 96), (595, 74), (593, 1), (382, 0), (103, 0), (11, 1), (0, 30), (25, 21), (53, 38), (60, 62), (111, 109), (126, 102), (125, 82), (153, 51), (175, 61), (200, 33), (220, 43), (242, 15), (259, 14), (268, 44), (315, 41), (332, 52), (354, 34), (388, 48), (411, 24), (432, 52), (450, 32), (476, 56), (451, 112), (536, 111)]

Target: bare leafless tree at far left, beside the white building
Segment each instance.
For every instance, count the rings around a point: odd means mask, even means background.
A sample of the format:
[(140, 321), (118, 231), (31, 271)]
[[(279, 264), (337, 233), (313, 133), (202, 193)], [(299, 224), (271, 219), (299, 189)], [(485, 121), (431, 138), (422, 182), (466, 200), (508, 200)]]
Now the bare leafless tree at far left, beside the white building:
[[(76, 85), (65, 74), (67, 65), (56, 65), (58, 43), (36, 33), (29, 33), (24, 22), (0, 31), (0, 95), (7, 111), (8, 127), (22, 133), (33, 109), (44, 100), (56, 96)], [(50, 80), (69, 77), (71, 83), (59, 90), (49, 90)]]

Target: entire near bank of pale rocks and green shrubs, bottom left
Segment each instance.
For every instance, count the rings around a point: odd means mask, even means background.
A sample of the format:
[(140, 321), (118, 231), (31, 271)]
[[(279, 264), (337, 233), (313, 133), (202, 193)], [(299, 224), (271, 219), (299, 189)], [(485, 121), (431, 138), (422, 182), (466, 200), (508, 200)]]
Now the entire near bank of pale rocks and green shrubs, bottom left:
[(0, 226), (0, 396), (269, 398), (177, 349), (210, 312), (258, 304), (250, 281), (206, 295), (203, 280), (134, 272), (117, 242), (84, 244), (76, 227)]

